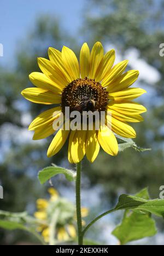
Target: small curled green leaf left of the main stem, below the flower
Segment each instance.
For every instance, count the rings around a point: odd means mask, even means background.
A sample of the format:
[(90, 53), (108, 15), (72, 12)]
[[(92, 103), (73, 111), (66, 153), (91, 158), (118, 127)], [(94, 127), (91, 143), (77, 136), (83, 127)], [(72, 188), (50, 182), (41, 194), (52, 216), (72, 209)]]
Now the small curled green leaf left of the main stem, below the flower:
[(64, 174), (68, 181), (75, 181), (76, 174), (71, 170), (67, 170), (62, 167), (58, 167), (56, 165), (46, 167), (42, 171), (39, 172), (38, 178), (41, 184), (47, 182), (50, 178), (56, 176), (57, 174)]

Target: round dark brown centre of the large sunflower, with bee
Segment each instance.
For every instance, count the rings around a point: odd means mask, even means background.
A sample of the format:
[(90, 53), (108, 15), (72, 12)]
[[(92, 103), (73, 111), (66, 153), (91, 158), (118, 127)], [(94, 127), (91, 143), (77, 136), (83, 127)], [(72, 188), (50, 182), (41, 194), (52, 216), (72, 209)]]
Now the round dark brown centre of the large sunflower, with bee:
[(65, 107), (70, 112), (105, 111), (108, 104), (108, 92), (102, 85), (93, 79), (77, 79), (68, 84), (62, 91), (62, 112)]

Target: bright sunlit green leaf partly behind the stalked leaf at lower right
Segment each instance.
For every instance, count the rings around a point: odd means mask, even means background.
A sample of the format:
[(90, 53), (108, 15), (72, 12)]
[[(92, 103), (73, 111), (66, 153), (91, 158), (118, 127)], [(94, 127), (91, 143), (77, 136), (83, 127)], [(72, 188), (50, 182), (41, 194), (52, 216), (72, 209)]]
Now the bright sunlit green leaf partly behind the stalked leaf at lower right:
[[(136, 197), (148, 200), (148, 189), (143, 189)], [(140, 212), (126, 210), (122, 223), (116, 227), (112, 234), (119, 239), (121, 245), (126, 245), (131, 241), (154, 236), (156, 232), (155, 221), (151, 218), (150, 213), (141, 214)]]

